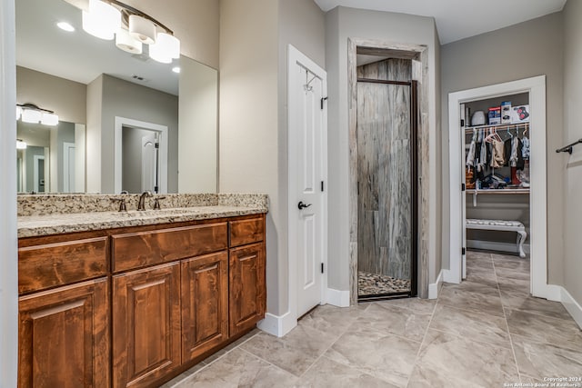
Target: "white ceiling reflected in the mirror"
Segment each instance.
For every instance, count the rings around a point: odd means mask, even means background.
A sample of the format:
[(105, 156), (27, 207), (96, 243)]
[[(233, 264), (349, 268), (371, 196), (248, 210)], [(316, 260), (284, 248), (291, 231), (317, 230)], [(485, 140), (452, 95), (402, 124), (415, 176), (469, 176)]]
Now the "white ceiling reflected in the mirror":
[[(177, 95), (178, 75), (172, 67), (148, 55), (131, 55), (88, 35), (81, 25), (81, 10), (64, 0), (18, 0), (16, 3), (16, 65), (49, 75), (89, 84), (101, 74)], [(66, 21), (75, 32), (56, 26)], [(146, 45), (144, 45), (146, 51)], [(143, 78), (138, 80), (134, 75)], [(58, 93), (58, 91), (55, 91)]]

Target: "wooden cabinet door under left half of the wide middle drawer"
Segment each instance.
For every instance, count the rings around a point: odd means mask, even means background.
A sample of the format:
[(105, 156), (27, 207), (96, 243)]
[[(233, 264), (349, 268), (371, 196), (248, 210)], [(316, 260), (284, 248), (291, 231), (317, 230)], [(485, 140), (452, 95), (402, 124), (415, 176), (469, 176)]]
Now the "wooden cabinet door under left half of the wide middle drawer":
[(113, 277), (114, 387), (151, 386), (180, 365), (180, 266)]

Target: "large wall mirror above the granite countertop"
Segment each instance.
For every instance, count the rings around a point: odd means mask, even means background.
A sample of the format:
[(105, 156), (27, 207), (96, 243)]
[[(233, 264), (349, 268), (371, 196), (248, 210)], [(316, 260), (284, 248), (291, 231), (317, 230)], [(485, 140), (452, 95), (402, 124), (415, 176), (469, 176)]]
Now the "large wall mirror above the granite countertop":
[(130, 54), (88, 35), (83, 3), (16, 2), (17, 104), (59, 116), (18, 121), (18, 191), (216, 193), (216, 69), (186, 56), (161, 64), (147, 45)]

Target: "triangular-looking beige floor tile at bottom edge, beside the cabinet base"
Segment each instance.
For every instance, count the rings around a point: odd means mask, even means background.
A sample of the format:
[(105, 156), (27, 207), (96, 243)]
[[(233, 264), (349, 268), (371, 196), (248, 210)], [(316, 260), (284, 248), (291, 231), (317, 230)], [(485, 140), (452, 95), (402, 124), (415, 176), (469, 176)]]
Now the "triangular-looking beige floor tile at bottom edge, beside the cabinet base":
[(294, 387), (297, 378), (243, 350), (226, 353), (175, 388)]

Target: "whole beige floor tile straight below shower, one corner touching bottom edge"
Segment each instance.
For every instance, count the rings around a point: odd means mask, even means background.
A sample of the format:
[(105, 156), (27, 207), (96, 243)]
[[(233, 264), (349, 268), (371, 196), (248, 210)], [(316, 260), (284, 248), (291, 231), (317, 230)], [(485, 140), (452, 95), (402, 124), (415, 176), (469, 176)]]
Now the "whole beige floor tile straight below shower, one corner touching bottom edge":
[(420, 343), (376, 330), (350, 330), (325, 353), (336, 363), (394, 384), (406, 386)]

